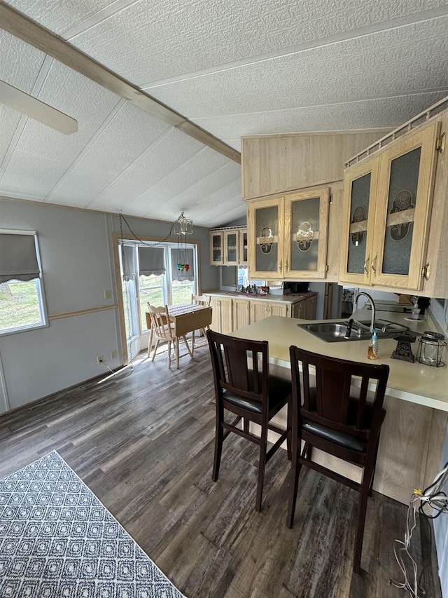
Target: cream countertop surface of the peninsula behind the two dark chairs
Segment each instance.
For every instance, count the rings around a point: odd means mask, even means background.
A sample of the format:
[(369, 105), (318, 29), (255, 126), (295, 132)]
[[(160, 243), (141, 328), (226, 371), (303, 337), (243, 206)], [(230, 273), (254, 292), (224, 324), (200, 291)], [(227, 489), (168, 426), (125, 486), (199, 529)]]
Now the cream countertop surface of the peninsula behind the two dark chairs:
[[(422, 333), (434, 329), (430, 320), (409, 322), (404, 319), (404, 316), (405, 314), (393, 312), (381, 311), (377, 313), (377, 318), (407, 325), (410, 332)], [(232, 332), (232, 335), (243, 339), (269, 341), (270, 360), (283, 367), (290, 367), (290, 345), (300, 346), (307, 349), (307, 351), (330, 355), (331, 357), (370, 362), (367, 360), (368, 340), (327, 343), (297, 326), (297, 324), (306, 322), (309, 322), (309, 320), (282, 318), (272, 315), (265, 318), (265, 320), (260, 320), (260, 322), (255, 322)], [(391, 354), (396, 346), (397, 341), (393, 339), (379, 339), (379, 358), (375, 363), (386, 363), (390, 367), (387, 395), (447, 412), (448, 367), (430, 367), (418, 362), (410, 363), (391, 359)], [(418, 342), (413, 343), (412, 353), (414, 355), (416, 355), (417, 348)]]

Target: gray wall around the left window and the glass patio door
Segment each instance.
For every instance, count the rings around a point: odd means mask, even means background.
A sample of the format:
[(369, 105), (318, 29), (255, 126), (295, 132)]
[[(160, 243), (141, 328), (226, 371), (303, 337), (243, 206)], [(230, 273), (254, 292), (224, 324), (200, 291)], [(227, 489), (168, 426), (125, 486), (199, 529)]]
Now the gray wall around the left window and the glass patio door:
[[(172, 224), (127, 220), (137, 236), (154, 238), (165, 238)], [(37, 231), (48, 315), (117, 303), (111, 235), (120, 233), (118, 216), (0, 198), (0, 227)], [(132, 238), (126, 228), (124, 236)], [(200, 242), (202, 290), (214, 289), (218, 273), (209, 266), (209, 231), (195, 226), (192, 237)], [(104, 290), (111, 290), (111, 299), (104, 299)], [(116, 309), (1, 336), (0, 413), (106, 374), (96, 355), (106, 358), (120, 346)], [(118, 353), (117, 360), (106, 361), (116, 368), (123, 357)]]

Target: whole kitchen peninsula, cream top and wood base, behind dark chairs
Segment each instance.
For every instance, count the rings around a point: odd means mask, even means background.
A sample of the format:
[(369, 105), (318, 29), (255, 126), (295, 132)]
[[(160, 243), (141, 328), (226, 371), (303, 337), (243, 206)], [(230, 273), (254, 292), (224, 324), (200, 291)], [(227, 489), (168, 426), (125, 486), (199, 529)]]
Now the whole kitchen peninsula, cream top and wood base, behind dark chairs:
[[(404, 314), (381, 312), (377, 318), (405, 324), (410, 332), (434, 329), (431, 320), (409, 322), (404, 320)], [(335, 358), (370, 362), (367, 360), (368, 340), (328, 343), (297, 327), (300, 323), (309, 322), (271, 316), (232, 334), (269, 341), (272, 370), (285, 377), (290, 377), (290, 345)], [(396, 345), (393, 339), (379, 339), (379, 358), (374, 362), (390, 367), (384, 401), (387, 414), (381, 429), (374, 489), (408, 504), (413, 489), (426, 487), (440, 470), (448, 421), (448, 367), (391, 359)], [(417, 346), (418, 341), (412, 344), (414, 354)], [(286, 412), (279, 414), (278, 423), (285, 425)], [(331, 462), (330, 466), (359, 480), (355, 466), (342, 465), (339, 460), (318, 451), (316, 454), (316, 460), (323, 464)]]

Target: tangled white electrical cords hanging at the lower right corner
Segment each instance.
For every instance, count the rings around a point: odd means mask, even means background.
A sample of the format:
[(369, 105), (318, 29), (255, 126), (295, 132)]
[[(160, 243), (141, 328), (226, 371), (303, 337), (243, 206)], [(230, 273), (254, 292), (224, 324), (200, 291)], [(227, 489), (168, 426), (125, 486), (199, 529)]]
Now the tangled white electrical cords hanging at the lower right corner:
[[(393, 546), (393, 554), (395, 555), (395, 559), (400, 567), (404, 581), (402, 583), (391, 581), (391, 584), (395, 587), (401, 587), (403, 590), (406, 590), (409, 596), (412, 598), (423, 598), (422, 594), (425, 593), (424, 590), (421, 590), (421, 594), (419, 594), (417, 564), (409, 552), (412, 534), (416, 528), (416, 511), (418, 509), (419, 513), (425, 517), (428, 517), (428, 519), (435, 519), (435, 517), (438, 517), (441, 513), (448, 513), (448, 496), (442, 490), (442, 487), (447, 480), (448, 461), (444, 464), (442, 470), (437, 473), (432, 484), (430, 484), (423, 491), (419, 489), (414, 490), (409, 503), (409, 508), (407, 509), (404, 541), (395, 540), (395, 544)], [(436, 514), (429, 514), (425, 511), (425, 508), (432, 508), (433, 511), (436, 511)], [(398, 548), (398, 546), (400, 546), (400, 548)], [(411, 585), (407, 576), (405, 559), (409, 559), (409, 562), (412, 566), (412, 572), (414, 576), (413, 585)]]

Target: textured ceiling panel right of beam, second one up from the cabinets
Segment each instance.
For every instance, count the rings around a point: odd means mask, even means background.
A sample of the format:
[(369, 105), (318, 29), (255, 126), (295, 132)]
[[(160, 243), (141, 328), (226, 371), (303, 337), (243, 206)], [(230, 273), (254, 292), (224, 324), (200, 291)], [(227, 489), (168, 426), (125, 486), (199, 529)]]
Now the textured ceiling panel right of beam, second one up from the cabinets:
[[(440, 25), (446, 29), (448, 17)], [(148, 92), (195, 120), (447, 88), (448, 36), (442, 37), (430, 23), (411, 25)]]

